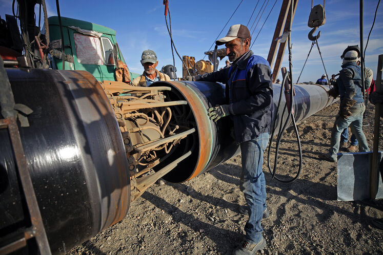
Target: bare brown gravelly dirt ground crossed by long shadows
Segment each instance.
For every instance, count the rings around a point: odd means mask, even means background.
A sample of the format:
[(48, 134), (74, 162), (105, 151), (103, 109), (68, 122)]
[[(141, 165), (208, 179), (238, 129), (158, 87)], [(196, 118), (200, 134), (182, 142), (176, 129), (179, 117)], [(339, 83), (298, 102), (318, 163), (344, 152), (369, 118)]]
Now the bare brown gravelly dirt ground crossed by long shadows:
[[(298, 125), (304, 157), (298, 180), (271, 179), (264, 163), (270, 217), (262, 221), (267, 245), (261, 253), (383, 253), (383, 231), (370, 225), (383, 217), (383, 202), (337, 201), (336, 163), (318, 159), (329, 147), (338, 105)], [(370, 125), (363, 128), (371, 149), (373, 110), (369, 104), (365, 121)], [(382, 128), (380, 120), (379, 150)], [(298, 167), (294, 132), (286, 132), (279, 153), (277, 177), (294, 174), (286, 171)], [(238, 187), (240, 165), (239, 155), (185, 183), (154, 184), (131, 203), (123, 221), (68, 254), (231, 254), (248, 218), (238, 213), (238, 204), (245, 204)]]

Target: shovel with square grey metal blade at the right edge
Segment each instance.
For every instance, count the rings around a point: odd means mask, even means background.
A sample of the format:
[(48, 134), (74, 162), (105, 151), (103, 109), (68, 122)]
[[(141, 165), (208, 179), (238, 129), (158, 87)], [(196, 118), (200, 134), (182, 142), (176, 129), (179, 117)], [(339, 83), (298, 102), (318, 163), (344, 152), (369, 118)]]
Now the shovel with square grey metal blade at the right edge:
[[(383, 54), (378, 56), (376, 90), (381, 88)], [(379, 148), (380, 103), (375, 104), (374, 143), (372, 152), (338, 153), (338, 200), (374, 200), (383, 198), (383, 183), (378, 167), (382, 160)]]

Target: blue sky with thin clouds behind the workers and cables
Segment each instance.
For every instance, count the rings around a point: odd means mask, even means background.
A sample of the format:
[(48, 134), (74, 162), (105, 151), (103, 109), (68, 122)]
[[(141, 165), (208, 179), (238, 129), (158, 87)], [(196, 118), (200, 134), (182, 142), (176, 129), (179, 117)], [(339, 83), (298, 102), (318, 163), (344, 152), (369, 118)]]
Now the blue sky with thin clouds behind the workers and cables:
[[(265, 0), (259, 0), (250, 24), (258, 13)], [(204, 52), (209, 50), (219, 32), (224, 28), (240, 0), (216, 1), (175, 1), (169, 0), (173, 40), (178, 53), (194, 56), (196, 61), (205, 57)], [(258, 0), (243, 0), (229, 24), (219, 35), (224, 37), (231, 25), (248, 24), (251, 13)], [(266, 1), (267, 3), (268, 1)], [(366, 44), (370, 31), (375, 8), (378, 0), (365, 0), (364, 10), (364, 40)], [(56, 15), (55, 1), (46, 0), (48, 14)], [(141, 53), (146, 49), (154, 50), (159, 60), (157, 69), (172, 64), (170, 38), (166, 29), (163, 0), (147, 1), (61, 1), (61, 15), (86, 20), (116, 30), (116, 38), (123, 52), (128, 67), (132, 72), (142, 73), (140, 65)], [(275, 0), (269, 1), (265, 12), (256, 27), (253, 39), (258, 34)], [(255, 40), (252, 51), (256, 55), (267, 58), (272, 36), (278, 18), (282, 0), (277, 0), (265, 26)], [(322, 4), (314, 1), (314, 5)], [(12, 0), (0, 0), (0, 15), (11, 14)], [(366, 67), (374, 72), (376, 77), (377, 56), (383, 54), (383, 4), (380, 4), (375, 25), (370, 36), (366, 51)], [(298, 2), (292, 27), (292, 56), (293, 80), (297, 80), (311, 47), (307, 34), (311, 28), (307, 26), (311, 8), (311, 1)], [(319, 47), (324, 58), (329, 76), (341, 69), (340, 55), (348, 45), (359, 44), (359, 1), (357, 0), (327, 0), (326, 24), (318, 30), (321, 31)], [(169, 23), (169, 19), (168, 19)], [(255, 22), (257, 23), (257, 22)], [(251, 25), (249, 25), (250, 27)], [(255, 25), (254, 25), (255, 26)], [(316, 33), (315, 33), (316, 34)], [(220, 48), (220, 47), (219, 47)], [(177, 76), (182, 76), (182, 63), (175, 55)], [(207, 59), (207, 57), (205, 57)], [(224, 58), (220, 66), (225, 65)], [(287, 50), (282, 63), (288, 67)], [(321, 60), (316, 48), (313, 48), (300, 81), (316, 81), (324, 74)], [(279, 78), (280, 78), (279, 74)]]

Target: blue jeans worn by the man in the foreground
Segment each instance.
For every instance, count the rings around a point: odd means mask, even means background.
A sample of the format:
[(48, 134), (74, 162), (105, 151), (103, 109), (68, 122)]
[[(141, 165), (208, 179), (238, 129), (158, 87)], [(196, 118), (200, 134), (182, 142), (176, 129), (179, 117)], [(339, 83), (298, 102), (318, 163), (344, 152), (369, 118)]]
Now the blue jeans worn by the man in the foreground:
[(269, 143), (269, 133), (260, 134), (256, 139), (240, 144), (242, 176), (240, 189), (245, 195), (249, 210), (249, 220), (245, 225), (245, 240), (258, 243), (262, 239), (260, 225), (266, 210), (266, 181), (262, 171), (264, 152)]

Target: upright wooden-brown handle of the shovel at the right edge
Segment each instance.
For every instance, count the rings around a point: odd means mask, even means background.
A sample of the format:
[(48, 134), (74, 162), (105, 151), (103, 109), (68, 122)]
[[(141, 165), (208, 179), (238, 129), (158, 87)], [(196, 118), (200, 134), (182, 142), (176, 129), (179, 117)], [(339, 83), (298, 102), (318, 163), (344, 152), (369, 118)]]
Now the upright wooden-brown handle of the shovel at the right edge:
[[(378, 56), (378, 70), (376, 72), (376, 91), (381, 89), (381, 73), (383, 69), (383, 54)], [(370, 171), (370, 197), (375, 199), (378, 185), (378, 149), (379, 149), (379, 128), (380, 128), (380, 103), (375, 104), (374, 118), (374, 143), (372, 149), (372, 165)]]

